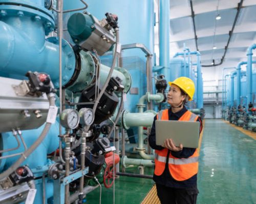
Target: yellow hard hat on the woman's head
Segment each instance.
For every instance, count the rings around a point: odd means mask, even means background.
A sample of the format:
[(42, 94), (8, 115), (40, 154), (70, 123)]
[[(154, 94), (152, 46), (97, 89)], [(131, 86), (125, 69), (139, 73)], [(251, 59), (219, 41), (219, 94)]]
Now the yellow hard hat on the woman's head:
[(188, 100), (193, 100), (193, 96), (195, 93), (195, 84), (194, 82), (187, 78), (187, 77), (179, 77), (173, 82), (168, 82), (170, 86), (172, 84), (178, 86), (180, 89), (182, 89), (187, 95), (188, 95)]

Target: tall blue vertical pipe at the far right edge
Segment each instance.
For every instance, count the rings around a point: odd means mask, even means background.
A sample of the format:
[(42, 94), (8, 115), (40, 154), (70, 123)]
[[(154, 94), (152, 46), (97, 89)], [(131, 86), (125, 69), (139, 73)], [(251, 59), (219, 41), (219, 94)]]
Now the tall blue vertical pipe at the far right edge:
[(252, 50), (256, 48), (256, 44), (252, 44), (247, 49), (247, 106), (252, 102)]

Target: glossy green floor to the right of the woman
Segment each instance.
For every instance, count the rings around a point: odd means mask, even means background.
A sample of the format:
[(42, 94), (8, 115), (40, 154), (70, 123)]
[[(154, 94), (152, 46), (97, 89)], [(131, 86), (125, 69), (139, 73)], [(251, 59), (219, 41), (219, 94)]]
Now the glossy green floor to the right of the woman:
[(256, 140), (223, 120), (206, 119), (198, 203), (256, 203)]

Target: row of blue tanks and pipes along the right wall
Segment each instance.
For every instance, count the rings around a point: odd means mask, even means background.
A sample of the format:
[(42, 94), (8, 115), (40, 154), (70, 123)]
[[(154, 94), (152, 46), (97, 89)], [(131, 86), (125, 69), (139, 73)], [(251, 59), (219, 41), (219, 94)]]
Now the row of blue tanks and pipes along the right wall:
[[(247, 49), (247, 61), (240, 62), (234, 70), (223, 75), (222, 117), (246, 130), (256, 131), (256, 70), (252, 50)], [(246, 71), (241, 66), (246, 65)], [(225, 69), (225, 68), (224, 68)]]

